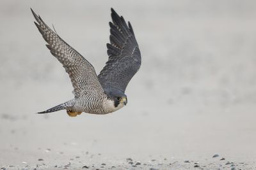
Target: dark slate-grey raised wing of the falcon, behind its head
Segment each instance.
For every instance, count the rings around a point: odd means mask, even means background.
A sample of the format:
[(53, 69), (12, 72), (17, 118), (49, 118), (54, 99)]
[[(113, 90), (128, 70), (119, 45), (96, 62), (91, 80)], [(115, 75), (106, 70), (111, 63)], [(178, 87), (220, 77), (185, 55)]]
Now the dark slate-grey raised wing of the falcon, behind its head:
[(109, 59), (98, 75), (104, 90), (116, 89), (125, 92), (132, 76), (140, 69), (141, 55), (130, 22), (111, 8), (113, 22), (110, 26), (110, 44), (107, 44)]

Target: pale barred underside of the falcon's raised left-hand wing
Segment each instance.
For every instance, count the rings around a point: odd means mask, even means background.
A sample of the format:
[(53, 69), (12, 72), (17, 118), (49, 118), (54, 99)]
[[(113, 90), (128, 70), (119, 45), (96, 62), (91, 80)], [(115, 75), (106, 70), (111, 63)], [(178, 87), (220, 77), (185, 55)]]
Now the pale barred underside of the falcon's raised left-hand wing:
[(103, 93), (104, 90), (92, 64), (61, 39), (56, 32), (52, 31), (32, 9), (31, 11), (37, 21), (37, 23), (35, 22), (36, 27), (48, 43), (47, 48), (51, 50), (52, 55), (61, 62), (68, 73), (74, 87), (75, 97), (85, 94), (97, 96), (97, 94)]

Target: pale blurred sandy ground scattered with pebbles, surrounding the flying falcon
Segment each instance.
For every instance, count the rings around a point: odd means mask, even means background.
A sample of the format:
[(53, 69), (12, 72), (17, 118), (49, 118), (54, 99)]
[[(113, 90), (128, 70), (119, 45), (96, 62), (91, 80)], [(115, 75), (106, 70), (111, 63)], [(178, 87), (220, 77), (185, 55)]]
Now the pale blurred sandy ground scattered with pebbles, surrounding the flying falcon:
[[(97, 73), (108, 59), (110, 8), (131, 21), (143, 63), (125, 108), (35, 114), (73, 96), (30, 7)], [(0, 168), (256, 169), (255, 9), (255, 1), (1, 1)]]

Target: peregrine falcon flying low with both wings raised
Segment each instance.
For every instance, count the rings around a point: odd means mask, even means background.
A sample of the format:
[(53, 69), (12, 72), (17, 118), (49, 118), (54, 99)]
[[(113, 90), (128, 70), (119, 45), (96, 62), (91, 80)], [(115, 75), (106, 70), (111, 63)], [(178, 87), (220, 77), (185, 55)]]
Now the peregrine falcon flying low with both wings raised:
[(68, 73), (74, 87), (74, 99), (38, 113), (67, 110), (70, 117), (82, 112), (107, 114), (127, 104), (125, 89), (132, 76), (140, 69), (141, 54), (130, 22), (125, 22), (111, 8), (108, 61), (99, 75), (84, 57), (66, 43), (42, 18), (31, 9), (35, 25), (47, 42), (47, 48)]

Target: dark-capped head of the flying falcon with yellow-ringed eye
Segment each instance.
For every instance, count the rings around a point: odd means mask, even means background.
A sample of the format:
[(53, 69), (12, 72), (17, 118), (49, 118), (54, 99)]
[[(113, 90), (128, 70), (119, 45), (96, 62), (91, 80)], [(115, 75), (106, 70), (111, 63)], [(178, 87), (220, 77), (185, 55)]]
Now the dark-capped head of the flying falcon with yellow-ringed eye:
[(106, 92), (108, 99), (111, 101), (111, 107), (113, 110), (119, 110), (127, 104), (127, 96), (119, 90)]

